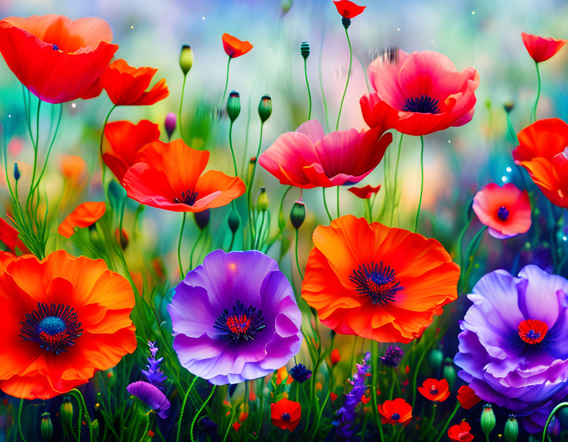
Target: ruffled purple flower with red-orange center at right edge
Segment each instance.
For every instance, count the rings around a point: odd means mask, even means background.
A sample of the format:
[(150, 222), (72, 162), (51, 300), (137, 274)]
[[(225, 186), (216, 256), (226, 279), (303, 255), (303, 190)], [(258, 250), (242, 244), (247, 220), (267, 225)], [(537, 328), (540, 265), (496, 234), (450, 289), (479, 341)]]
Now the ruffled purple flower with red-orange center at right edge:
[(467, 295), (473, 305), (454, 358), (463, 380), (483, 401), (542, 430), (552, 408), (568, 394), (568, 281), (527, 265), (513, 277), (486, 274)]

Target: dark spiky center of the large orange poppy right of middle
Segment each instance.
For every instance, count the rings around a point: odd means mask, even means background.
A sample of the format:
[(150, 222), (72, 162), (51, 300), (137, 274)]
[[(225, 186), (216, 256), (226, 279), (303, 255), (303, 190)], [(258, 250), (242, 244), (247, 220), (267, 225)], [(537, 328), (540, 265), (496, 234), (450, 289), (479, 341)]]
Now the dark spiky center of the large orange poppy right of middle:
[(359, 266), (358, 270), (353, 270), (349, 280), (355, 283), (356, 290), (371, 298), (373, 305), (387, 305), (395, 302), (396, 292), (404, 289), (399, 287), (400, 282), (396, 281), (394, 269), (390, 266), (383, 267), (371, 262)]

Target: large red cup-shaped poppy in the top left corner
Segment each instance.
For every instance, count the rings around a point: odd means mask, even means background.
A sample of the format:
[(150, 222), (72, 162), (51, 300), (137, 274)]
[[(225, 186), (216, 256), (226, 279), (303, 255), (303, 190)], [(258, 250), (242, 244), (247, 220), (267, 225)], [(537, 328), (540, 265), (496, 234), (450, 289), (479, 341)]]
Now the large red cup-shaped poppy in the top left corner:
[(82, 97), (118, 49), (111, 41), (110, 26), (101, 18), (48, 14), (0, 22), (0, 52), (8, 67), (49, 103)]

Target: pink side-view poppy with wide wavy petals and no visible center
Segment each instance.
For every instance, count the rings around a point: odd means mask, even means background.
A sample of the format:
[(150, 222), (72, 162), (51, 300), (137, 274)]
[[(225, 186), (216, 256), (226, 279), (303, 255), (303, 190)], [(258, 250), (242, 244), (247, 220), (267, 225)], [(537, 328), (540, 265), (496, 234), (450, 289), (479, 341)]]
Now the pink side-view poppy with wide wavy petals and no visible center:
[(258, 164), (281, 184), (302, 189), (354, 184), (377, 167), (391, 141), (380, 126), (325, 135), (318, 120), (309, 120), (279, 136)]

